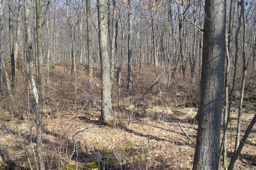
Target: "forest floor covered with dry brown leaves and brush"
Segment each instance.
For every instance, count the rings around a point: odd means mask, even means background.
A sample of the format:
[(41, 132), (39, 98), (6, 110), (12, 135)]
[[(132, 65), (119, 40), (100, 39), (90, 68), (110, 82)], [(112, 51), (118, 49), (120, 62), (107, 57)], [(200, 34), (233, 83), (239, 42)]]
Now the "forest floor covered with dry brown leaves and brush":
[[(72, 93), (70, 66), (59, 63), (50, 72), (46, 100), (40, 105), (46, 169), (192, 169), (195, 145), (178, 123), (195, 142), (198, 83), (173, 78), (167, 90), (168, 75), (157, 79), (161, 73), (151, 71), (147, 75), (146, 65), (144, 74), (135, 68), (133, 94), (126, 93), (125, 80), (121, 88), (113, 88), (112, 107), (119, 124), (107, 126), (97, 121), (101, 109), (99, 67), (94, 67), (94, 90), (88, 89), (87, 71), (77, 70), (77, 96)], [(135, 106), (156, 79), (160, 83)], [(36, 146), (33, 99), (29, 87), (17, 85), (15, 90), (13, 99), (2, 97), (0, 102), (1, 168), (31, 169)], [(245, 96), (242, 110), (242, 134), (255, 114), (255, 98), (249, 96)], [(234, 150), (237, 102), (234, 101), (230, 115), (228, 161)], [(28, 121), (21, 120), (21, 113)], [(256, 169), (255, 126), (239, 157), (239, 169)]]

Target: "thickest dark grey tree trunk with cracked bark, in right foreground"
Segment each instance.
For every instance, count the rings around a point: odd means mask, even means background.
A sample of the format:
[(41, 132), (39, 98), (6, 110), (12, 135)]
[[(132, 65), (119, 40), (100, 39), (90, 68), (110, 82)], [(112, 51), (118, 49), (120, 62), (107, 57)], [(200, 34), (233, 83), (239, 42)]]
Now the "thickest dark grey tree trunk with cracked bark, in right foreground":
[(226, 4), (205, 1), (201, 102), (193, 169), (216, 169), (223, 99)]

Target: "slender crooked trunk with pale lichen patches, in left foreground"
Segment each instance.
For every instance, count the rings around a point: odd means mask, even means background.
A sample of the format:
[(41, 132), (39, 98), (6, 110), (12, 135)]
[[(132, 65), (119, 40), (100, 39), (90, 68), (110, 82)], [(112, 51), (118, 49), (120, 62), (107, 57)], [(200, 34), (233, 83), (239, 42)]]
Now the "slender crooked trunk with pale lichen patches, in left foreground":
[(25, 23), (26, 23), (26, 34), (27, 34), (27, 47), (29, 56), (29, 78), (31, 83), (31, 88), (35, 100), (35, 115), (36, 115), (36, 162), (35, 168), (37, 170), (44, 170), (44, 162), (42, 157), (42, 127), (41, 118), (39, 112), (39, 96), (36, 89), (36, 83), (34, 80), (34, 66), (33, 66), (33, 52), (32, 52), (32, 36), (30, 30), (30, 0), (25, 1)]

